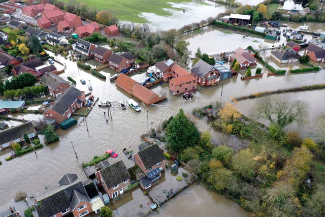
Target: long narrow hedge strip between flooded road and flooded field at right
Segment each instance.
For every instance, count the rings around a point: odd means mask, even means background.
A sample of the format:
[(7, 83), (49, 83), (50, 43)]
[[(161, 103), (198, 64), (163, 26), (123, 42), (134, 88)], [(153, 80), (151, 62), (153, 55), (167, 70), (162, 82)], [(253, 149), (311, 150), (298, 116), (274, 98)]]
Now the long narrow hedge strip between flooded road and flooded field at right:
[(265, 96), (269, 96), (269, 95), (273, 95), (273, 94), (282, 94), (284, 92), (298, 92), (298, 91), (315, 90), (315, 89), (325, 89), (325, 83), (313, 84), (313, 85), (309, 85), (309, 86), (293, 87), (293, 88), (288, 88), (288, 89), (278, 89), (278, 90), (273, 90), (273, 91), (257, 92), (256, 94), (251, 94), (248, 96), (235, 98), (233, 101), (254, 99), (254, 98), (265, 97)]

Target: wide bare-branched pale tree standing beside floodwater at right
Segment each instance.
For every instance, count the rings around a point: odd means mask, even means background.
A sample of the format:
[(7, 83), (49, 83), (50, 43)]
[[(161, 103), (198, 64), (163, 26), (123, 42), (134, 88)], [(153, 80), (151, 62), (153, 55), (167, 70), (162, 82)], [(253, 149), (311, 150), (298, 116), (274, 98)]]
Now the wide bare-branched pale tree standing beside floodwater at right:
[(300, 100), (290, 100), (288, 97), (268, 96), (258, 99), (251, 116), (264, 118), (283, 129), (293, 122), (299, 126), (308, 120), (308, 104)]

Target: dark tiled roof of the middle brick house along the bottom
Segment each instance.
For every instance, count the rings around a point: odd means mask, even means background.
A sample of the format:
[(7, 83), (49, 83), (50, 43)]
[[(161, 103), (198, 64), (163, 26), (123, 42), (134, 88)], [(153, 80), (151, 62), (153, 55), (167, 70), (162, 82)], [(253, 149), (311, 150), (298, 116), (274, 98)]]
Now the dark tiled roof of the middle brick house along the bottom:
[(108, 189), (127, 180), (128, 178), (131, 178), (131, 175), (128, 173), (123, 161), (118, 161), (115, 164), (100, 170), (100, 173)]

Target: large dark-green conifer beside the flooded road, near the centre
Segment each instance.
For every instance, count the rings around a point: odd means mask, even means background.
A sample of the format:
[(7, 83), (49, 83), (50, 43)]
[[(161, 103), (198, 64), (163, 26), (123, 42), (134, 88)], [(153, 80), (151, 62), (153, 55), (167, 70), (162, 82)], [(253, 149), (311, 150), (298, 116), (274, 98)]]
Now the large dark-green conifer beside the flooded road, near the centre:
[(166, 128), (168, 148), (174, 152), (194, 146), (200, 140), (200, 133), (195, 124), (180, 109)]

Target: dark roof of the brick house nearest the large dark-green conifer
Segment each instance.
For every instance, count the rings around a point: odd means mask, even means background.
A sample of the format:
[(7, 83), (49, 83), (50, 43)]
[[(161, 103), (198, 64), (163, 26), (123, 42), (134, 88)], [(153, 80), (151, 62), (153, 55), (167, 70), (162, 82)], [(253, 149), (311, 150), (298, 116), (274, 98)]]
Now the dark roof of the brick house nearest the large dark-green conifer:
[(163, 152), (157, 144), (151, 145), (138, 152), (139, 157), (146, 169), (166, 160)]

